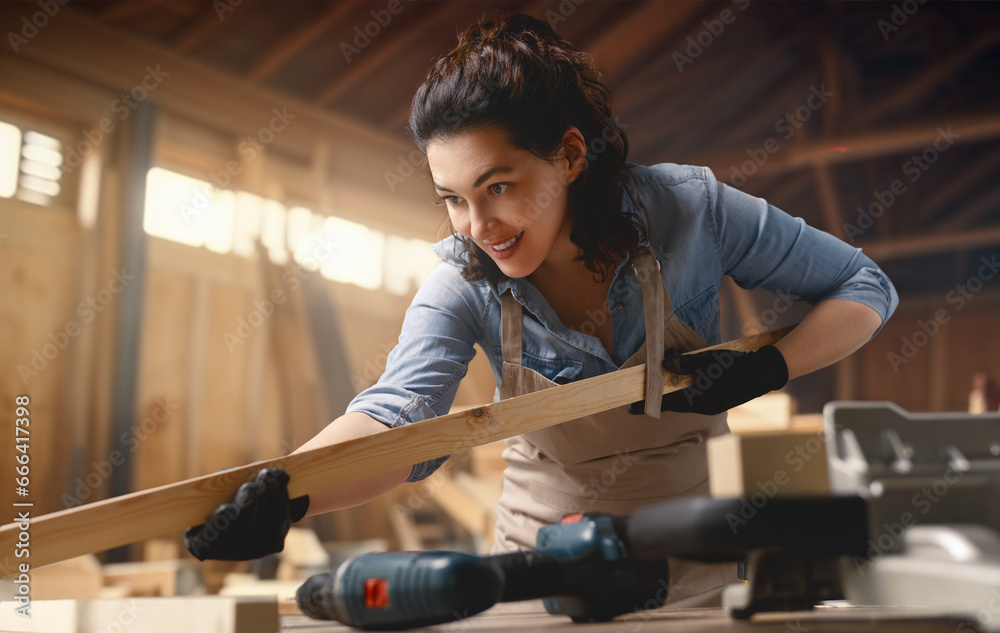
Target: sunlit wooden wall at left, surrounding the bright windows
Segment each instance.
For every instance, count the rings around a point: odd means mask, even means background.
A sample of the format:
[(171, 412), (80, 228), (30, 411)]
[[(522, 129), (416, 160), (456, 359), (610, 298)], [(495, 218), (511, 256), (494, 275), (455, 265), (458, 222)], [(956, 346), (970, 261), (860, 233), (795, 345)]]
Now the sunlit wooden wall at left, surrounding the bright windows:
[[(0, 52), (0, 119), (73, 146), (82, 131), (111, 115), (115, 98), (136, 85), (147, 61), (164, 56), (138, 44), (129, 53), (129, 42), (78, 47), (60, 39), (75, 35), (58, 28), (41, 33), (23, 55)], [(153, 93), (160, 104), (153, 163), (204, 179), (238, 160), (241, 135), (256, 132), (281, 103), (165, 57), (171, 76)], [(225, 103), (199, 105), (208, 93), (225, 95)], [(395, 193), (384, 184), (383, 174), (411, 147), (302, 104), (289, 108), (297, 114), (294, 125), (242, 165), (234, 187), (403, 237), (435, 239), (442, 217), (427, 204), (426, 183), (414, 179)], [(131, 460), (131, 488), (143, 489), (286, 454), (337, 415), (323, 399), (315, 352), (296, 343), (308, 331), (301, 296), (287, 292), (290, 300), (251, 336), (227, 346), (225, 334), (271, 288), (259, 258), (150, 237), (128, 433), (113, 435), (110, 422), (120, 325), (114, 301), (81, 323), (81, 333), (25, 384), (18, 366), (30, 367), (33, 350), (58, 338), (67, 322), (81, 321), (81, 302), (120, 271), (121, 214), (135, 210), (120, 208), (116, 142), (112, 132), (95, 147), (51, 207), (0, 199), (0, 402), (12, 413), (16, 395), (31, 397), (36, 514), (105, 498), (120, 456)], [(365, 386), (384, 366), (410, 297), (326, 279), (320, 286), (346, 334), (342, 378)], [(482, 358), (476, 367), (480, 377), (467, 381), (459, 398), (467, 406), (493, 393)], [(3, 419), (3, 434), (13, 436), (12, 418)], [(3, 472), (12, 471), (12, 459), (10, 450), (0, 453)], [(11, 486), (4, 487), (0, 502), (9, 507), (11, 496)], [(336, 513), (315, 527), (327, 536), (391, 537), (391, 501)]]

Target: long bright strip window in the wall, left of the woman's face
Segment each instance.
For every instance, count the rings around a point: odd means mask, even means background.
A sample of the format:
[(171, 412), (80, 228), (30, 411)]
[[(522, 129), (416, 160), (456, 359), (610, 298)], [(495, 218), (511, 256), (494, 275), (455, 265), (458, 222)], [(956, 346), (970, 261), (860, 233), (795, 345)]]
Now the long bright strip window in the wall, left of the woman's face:
[(430, 242), (387, 235), (305, 207), (286, 207), (244, 191), (155, 167), (146, 180), (143, 227), (155, 235), (218, 253), (250, 257), (260, 239), (268, 256), (327, 279), (405, 295), (438, 263)]

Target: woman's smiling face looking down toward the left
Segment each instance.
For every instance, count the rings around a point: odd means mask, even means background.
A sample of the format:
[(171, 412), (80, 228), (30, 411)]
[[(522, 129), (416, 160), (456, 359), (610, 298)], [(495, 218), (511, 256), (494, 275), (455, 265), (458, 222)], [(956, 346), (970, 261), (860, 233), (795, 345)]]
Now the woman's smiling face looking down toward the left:
[[(579, 135), (570, 128), (567, 135), (574, 133)], [(555, 160), (543, 160), (511, 145), (494, 127), (427, 144), (434, 190), (455, 231), (478, 244), (508, 277), (527, 277), (572, 246), (567, 186), (583, 156), (572, 151), (572, 141), (569, 147)]]

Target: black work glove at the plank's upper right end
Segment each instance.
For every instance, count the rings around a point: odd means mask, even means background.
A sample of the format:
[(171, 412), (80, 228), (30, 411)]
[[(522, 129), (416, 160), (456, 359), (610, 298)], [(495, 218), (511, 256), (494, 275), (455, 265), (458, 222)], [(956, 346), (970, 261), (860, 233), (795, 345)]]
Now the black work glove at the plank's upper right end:
[[(690, 387), (663, 396), (663, 411), (716, 415), (741, 405), (769, 391), (781, 389), (788, 382), (785, 357), (773, 345), (756, 352), (721, 349), (684, 355), (683, 350), (668, 349), (663, 368), (674, 374), (694, 378)], [(628, 412), (641, 414), (645, 402), (633, 402)]]

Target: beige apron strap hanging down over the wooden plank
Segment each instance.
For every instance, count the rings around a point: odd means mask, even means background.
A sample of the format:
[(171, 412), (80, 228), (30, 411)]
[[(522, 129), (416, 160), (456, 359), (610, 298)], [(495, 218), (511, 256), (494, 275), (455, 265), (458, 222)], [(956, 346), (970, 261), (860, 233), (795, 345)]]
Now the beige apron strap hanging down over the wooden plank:
[(670, 297), (660, 277), (660, 262), (652, 249), (636, 255), (632, 269), (642, 287), (643, 313), (646, 317), (646, 415), (659, 419), (665, 373), (663, 359), (663, 315), (672, 313)]

